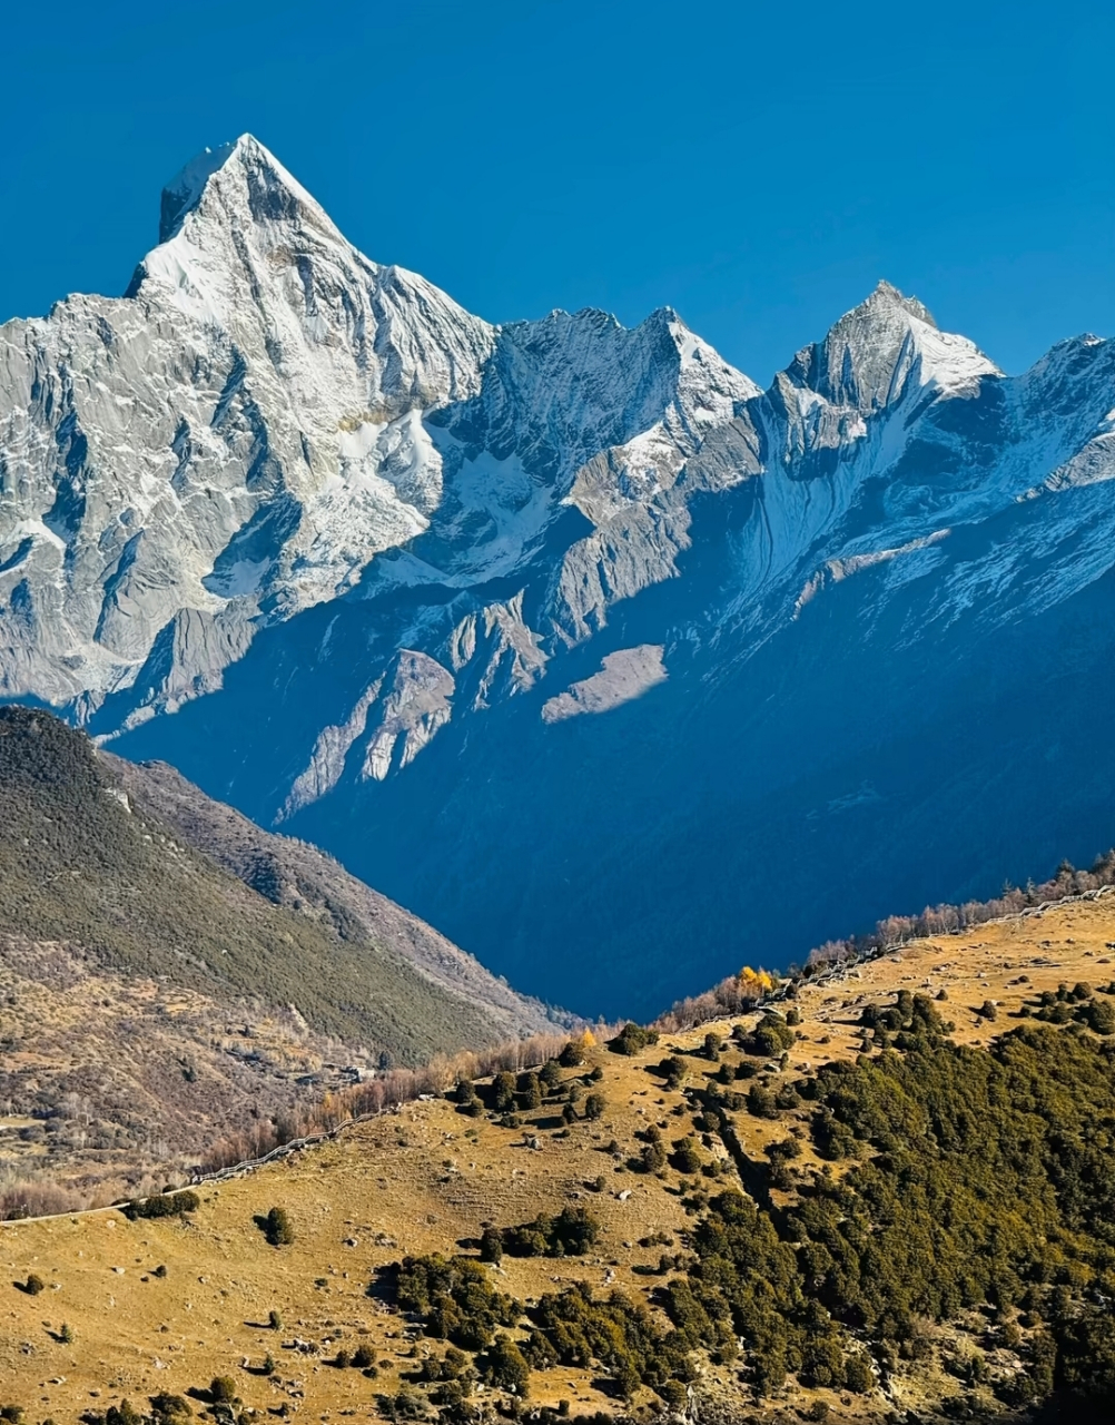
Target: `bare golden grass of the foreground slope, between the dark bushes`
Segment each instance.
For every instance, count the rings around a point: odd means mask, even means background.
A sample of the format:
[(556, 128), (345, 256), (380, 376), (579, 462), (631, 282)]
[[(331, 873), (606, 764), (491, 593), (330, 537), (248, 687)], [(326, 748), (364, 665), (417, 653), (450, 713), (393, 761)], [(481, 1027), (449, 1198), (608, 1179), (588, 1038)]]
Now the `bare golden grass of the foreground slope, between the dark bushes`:
[[(934, 995), (944, 989), (948, 1003), (943, 1007), (956, 1022), (956, 1037), (985, 1042), (1007, 1027), (1004, 1017), (1024, 996), (1055, 989), (1062, 980), (1111, 979), (1112, 942), (1115, 896), (984, 925), (971, 936), (917, 942), (805, 985), (797, 999), (799, 1037), (785, 1073), (799, 1076), (854, 1054), (862, 1005), (886, 1002), (899, 989)], [(1000, 1005), (995, 1025), (974, 1013), (987, 999)], [(684, 1206), (678, 1173), (668, 1168), (661, 1178), (632, 1173), (625, 1160), (638, 1150), (635, 1134), (649, 1123), (661, 1124), (668, 1141), (692, 1131), (685, 1093), (665, 1090), (648, 1069), (672, 1046), (696, 1049), (709, 1027), (726, 1033), (732, 1022), (665, 1035), (658, 1047), (631, 1059), (592, 1050), (585, 1069), (598, 1064), (604, 1070), (597, 1087), (608, 1109), (595, 1123), (578, 1121), (568, 1137), (555, 1136), (561, 1120), (553, 1109), (548, 1119), (545, 1113), (528, 1116), (534, 1126), (524, 1134), (431, 1100), (353, 1127), (283, 1163), (205, 1187), (202, 1206), (188, 1221), (130, 1223), (117, 1211), (103, 1211), (4, 1224), (0, 1404), (19, 1402), (28, 1419), (70, 1425), (85, 1409), (103, 1411), (125, 1396), (141, 1404), (161, 1391), (184, 1394), (229, 1374), (249, 1408), (286, 1405), (315, 1419), (376, 1416), (376, 1394), (397, 1389), (414, 1354), (431, 1349), (375, 1291), (369, 1294), (376, 1268), (403, 1254), (453, 1251), (456, 1243), (478, 1237), (484, 1221), (527, 1221), (567, 1201), (588, 1206), (600, 1220), (602, 1234), (592, 1253), (560, 1261), (504, 1257), (497, 1270), (500, 1288), (531, 1301), (558, 1282), (585, 1280), (597, 1288), (617, 1285), (634, 1297), (648, 1295), (661, 1278), (634, 1268), (655, 1264), (662, 1245), (641, 1247), (639, 1240), (661, 1233), (678, 1250), (693, 1218)], [(702, 1073), (711, 1072), (706, 1060), (688, 1063), (691, 1083), (699, 1084)], [(567, 1072), (567, 1077), (582, 1072)], [(740, 1113), (735, 1126), (745, 1153), (762, 1160), (768, 1141), (793, 1130), (795, 1114), (768, 1121)], [(527, 1146), (527, 1136), (537, 1140), (537, 1149)], [(611, 1140), (619, 1144), (618, 1156), (608, 1151)], [(711, 1140), (705, 1157), (731, 1170), (719, 1140)], [(795, 1171), (807, 1171), (810, 1164), (817, 1161), (806, 1141)], [(590, 1184), (601, 1176), (604, 1188), (592, 1190)], [(253, 1216), (272, 1206), (290, 1216), (296, 1241), (289, 1247), (269, 1247), (253, 1226)], [(154, 1275), (159, 1265), (165, 1277)], [(34, 1297), (14, 1285), (30, 1273), (46, 1282)], [(281, 1314), (281, 1331), (266, 1328), (271, 1311)], [(71, 1344), (58, 1340), (63, 1324), (73, 1331)], [(295, 1341), (306, 1348), (292, 1348)], [(369, 1345), (382, 1364), (375, 1381), (328, 1364), (340, 1345), (353, 1349), (359, 1344)], [(276, 1374), (252, 1374), (268, 1352)], [(775, 1412), (823, 1399), (840, 1419), (883, 1419), (896, 1404), (917, 1405), (933, 1392), (930, 1369), (911, 1365), (890, 1401), (877, 1392), (852, 1398), (792, 1387), (768, 1409), (775, 1418)], [(709, 1367), (712, 1394), (715, 1378)], [(726, 1395), (731, 1381), (726, 1372)], [(568, 1399), (574, 1414), (619, 1409), (584, 1371), (535, 1372), (531, 1389), (538, 1404)], [(649, 1399), (642, 1392), (642, 1402)]]

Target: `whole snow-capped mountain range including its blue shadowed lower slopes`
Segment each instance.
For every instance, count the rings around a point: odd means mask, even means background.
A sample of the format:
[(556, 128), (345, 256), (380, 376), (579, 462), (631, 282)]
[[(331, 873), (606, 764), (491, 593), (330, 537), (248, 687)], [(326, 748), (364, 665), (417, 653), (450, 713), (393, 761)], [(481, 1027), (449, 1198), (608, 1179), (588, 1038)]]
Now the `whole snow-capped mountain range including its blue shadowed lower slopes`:
[(1112, 839), (1112, 343), (1008, 378), (881, 284), (762, 392), (490, 326), (249, 138), (161, 239), (0, 328), (7, 697), (590, 1010)]

